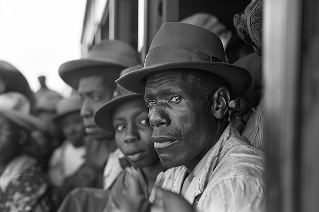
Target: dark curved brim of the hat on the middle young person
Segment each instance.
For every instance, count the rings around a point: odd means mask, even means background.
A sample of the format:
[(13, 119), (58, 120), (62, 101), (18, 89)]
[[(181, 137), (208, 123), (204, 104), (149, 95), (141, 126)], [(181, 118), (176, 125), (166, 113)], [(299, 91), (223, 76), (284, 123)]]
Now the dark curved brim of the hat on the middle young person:
[(126, 94), (110, 100), (102, 105), (94, 114), (95, 123), (102, 129), (107, 131), (114, 131), (112, 122), (112, 111), (116, 105), (129, 99), (143, 97), (140, 94)]

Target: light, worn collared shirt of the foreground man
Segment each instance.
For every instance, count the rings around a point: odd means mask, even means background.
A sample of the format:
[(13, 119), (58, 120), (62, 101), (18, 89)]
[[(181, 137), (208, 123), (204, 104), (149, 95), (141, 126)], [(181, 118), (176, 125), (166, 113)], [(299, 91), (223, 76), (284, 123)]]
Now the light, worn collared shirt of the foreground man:
[[(196, 211), (264, 211), (263, 153), (247, 144), (231, 124), (194, 168), (184, 198)], [(158, 174), (155, 185), (181, 194), (184, 166)], [(154, 192), (150, 196), (154, 200)]]

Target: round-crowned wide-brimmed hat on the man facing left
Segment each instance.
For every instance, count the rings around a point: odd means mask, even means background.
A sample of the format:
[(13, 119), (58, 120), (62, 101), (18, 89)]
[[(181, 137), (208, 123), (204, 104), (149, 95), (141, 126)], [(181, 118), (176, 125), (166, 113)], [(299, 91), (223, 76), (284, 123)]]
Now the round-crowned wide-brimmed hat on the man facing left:
[(120, 71), (140, 63), (138, 52), (127, 43), (120, 40), (104, 40), (94, 45), (86, 58), (62, 64), (59, 75), (68, 85), (77, 89), (79, 80), (84, 76), (92, 76), (98, 72), (108, 75), (110, 81), (114, 81)]

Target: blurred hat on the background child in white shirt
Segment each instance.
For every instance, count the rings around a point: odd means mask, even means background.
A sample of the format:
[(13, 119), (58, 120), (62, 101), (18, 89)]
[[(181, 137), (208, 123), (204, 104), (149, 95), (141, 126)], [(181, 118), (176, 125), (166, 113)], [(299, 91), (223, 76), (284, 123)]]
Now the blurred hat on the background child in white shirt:
[(59, 122), (59, 120), (67, 114), (79, 112), (81, 106), (82, 100), (77, 93), (72, 93), (69, 98), (61, 99), (56, 106), (56, 114), (53, 117), (54, 122)]

